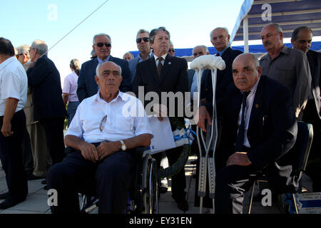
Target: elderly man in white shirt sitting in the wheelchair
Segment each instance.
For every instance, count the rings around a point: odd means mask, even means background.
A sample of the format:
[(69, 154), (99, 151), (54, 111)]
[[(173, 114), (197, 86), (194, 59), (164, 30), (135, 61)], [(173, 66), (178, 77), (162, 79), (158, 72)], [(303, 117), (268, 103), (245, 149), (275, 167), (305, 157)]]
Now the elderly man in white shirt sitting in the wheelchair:
[(98, 213), (124, 213), (135, 148), (153, 138), (141, 101), (118, 90), (121, 67), (102, 63), (95, 80), (98, 93), (83, 100), (68, 128), (65, 144), (71, 151), (47, 175), (49, 189), (58, 196), (52, 213), (78, 213), (78, 192), (99, 198)]

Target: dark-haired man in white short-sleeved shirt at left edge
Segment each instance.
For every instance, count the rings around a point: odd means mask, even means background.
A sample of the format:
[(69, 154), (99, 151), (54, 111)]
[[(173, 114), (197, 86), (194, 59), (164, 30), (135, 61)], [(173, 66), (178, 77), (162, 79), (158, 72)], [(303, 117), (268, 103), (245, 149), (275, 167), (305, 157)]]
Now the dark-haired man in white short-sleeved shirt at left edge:
[(8, 192), (0, 209), (13, 207), (26, 199), (28, 183), (22, 160), (22, 140), (26, 130), (24, 105), (27, 96), (27, 76), (24, 67), (14, 57), (14, 46), (0, 38), (0, 158)]

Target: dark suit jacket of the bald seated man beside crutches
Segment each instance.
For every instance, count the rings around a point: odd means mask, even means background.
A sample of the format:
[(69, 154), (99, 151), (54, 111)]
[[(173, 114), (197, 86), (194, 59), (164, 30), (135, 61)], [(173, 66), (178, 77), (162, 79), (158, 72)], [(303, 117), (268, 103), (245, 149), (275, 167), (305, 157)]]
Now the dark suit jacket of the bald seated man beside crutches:
[[(220, 146), (215, 162), (225, 165), (235, 151), (238, 135), (238, 118), (242, 104), (240, 90), (231, 84), (218, 103), (218, 115), (223, 118)], [(255, 170), (274, 164), (294, 145), (297, 124), (292, 107), (292, 95), (286, 86), (261, 76), (253, 100), (248, 126), (250, 152), (248, 157)]]

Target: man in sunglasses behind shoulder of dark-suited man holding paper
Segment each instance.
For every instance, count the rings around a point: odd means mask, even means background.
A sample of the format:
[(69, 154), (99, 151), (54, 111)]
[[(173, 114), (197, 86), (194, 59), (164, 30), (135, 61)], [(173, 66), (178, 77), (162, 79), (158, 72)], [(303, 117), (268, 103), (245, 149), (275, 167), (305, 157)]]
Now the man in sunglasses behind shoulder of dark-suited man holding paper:
[(139, 54), (136, 58), (133, 58), (128, 62), (129, 70), (131, 71), (131, 82), (133, 82), (133, 79), (136, 75), (137, 63), (141, 63), (142, 61), (153, 56), (153, 52), (151, 51), (151, 43), (149, 42), (149, 31), (140, 29), (137, 32), (136, 43)]

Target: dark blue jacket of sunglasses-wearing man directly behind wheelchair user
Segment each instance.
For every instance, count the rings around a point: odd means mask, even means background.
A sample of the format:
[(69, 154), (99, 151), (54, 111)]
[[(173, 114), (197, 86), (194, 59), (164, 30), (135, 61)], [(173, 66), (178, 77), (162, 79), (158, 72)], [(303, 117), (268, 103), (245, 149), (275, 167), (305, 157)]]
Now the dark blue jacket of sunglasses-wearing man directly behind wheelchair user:
[[(109, 61), (112, 61), (119, 66), (121, 66), (121, 74), (123, 76), (123, 81), (119, 90), (121, 92), (128, 92), (131, 90), (131, 72), (128, 68), (128, 61), (121, 58), (115, 58), (110, 56)], [(86, 61), (81, 65), (81, 71), (78, 77), (78, 88), (77, 95), (78, 99), (82, 101), (85, 98), (91, 97), (98, 92), (98, 85), (95, 81), (96, 68), (98, 66), (98, 59), (93, 58), (90, 61)]]

